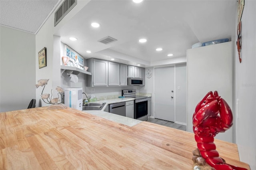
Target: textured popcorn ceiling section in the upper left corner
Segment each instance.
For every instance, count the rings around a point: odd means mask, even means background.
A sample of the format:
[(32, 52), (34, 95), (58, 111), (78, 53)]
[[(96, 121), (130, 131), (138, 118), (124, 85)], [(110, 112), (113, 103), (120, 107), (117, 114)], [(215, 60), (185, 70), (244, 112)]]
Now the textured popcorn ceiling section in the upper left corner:
[(0, 24), (35, 34), (59, 0), (0, 0)]

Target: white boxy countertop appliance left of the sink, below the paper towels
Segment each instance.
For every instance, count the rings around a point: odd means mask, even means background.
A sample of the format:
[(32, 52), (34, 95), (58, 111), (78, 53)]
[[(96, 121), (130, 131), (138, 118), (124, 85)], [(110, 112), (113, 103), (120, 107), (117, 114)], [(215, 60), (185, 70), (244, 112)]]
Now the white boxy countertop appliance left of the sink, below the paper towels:
[(64, 88), (64, 102), (67, 107), (72, 107), (82, 111), (83, 98), (82, 87), (78, 88)]

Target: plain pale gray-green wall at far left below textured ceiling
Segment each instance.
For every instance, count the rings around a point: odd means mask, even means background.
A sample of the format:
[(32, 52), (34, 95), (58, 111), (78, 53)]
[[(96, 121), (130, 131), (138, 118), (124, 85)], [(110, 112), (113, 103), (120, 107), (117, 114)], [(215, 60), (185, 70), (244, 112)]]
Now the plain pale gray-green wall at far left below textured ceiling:
[(36, 97), (36, 36), (0, 26), (0, 112), (27, 109)]

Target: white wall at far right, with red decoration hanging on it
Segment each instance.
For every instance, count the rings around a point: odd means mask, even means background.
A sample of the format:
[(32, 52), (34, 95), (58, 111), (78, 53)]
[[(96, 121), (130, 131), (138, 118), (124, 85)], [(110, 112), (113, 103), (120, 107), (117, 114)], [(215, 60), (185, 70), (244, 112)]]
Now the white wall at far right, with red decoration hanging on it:
[[(242, 14), (242, 63), (236, 50), (236, 143), (240, 160), (256, 170), (256, 1), (246, 0)], [(236, 37), (237, 38), (237, 37)]]

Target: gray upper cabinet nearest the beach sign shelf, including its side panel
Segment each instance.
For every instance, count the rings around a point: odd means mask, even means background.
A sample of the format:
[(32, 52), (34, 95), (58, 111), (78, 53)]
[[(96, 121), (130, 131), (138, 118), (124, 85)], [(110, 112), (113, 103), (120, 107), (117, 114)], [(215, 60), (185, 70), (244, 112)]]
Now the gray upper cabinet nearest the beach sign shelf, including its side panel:
[(89, 58), (86, 61), (88, 71), (92, 76), (86, 76), (86, 86), (107, 86), (108, 85), (108, 61)]

